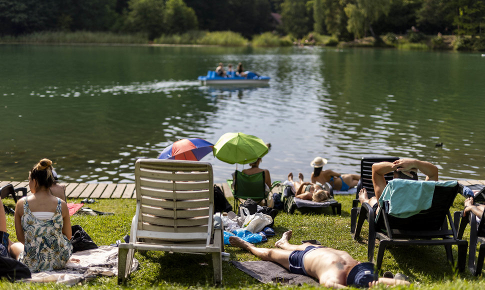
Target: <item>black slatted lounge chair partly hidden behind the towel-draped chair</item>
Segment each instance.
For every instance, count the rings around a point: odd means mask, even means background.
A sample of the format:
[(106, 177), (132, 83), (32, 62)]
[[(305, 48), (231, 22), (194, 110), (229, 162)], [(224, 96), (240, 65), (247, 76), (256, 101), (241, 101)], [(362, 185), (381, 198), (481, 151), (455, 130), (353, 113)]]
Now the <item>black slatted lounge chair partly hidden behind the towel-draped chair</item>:
[[(352, 236), (355, 232), (355, 223), (357, 221), (357, 216), (360, 213), (360, 208), (358, 207), (358, 192), (360, 191), (360, 189), (365, 188), (367, 190), (367, 196), (369, 198), (375, 196), (374, 184), (372, 183), (372, 164), (384, 161), (394, 162), (397, 159), (399, 159), (399, 157), (362, 157), (362, 159), (360, 160), (360, 180), (357, 184), (355, 199), (352, 201), (352, 209), (350, 209), (350, 233), (352, 234)], [(385, 182), (391, 180), (393, 176), (393, 172), (385, 174)]]

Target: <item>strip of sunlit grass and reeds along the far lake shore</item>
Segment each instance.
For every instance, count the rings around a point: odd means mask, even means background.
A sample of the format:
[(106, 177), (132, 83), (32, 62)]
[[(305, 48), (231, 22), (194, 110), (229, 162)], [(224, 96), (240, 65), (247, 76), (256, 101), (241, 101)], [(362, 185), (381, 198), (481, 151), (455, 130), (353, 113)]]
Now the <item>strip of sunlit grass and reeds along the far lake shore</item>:
[(117, 34), (112, 32), (90, 31), (43, 31), (19, 36), (0, 36), (0, 43), (95, 43), (95, 44), (171, 44), (171, 45), (217, 45), (217, 46), (261, 46), (278, 47), (290, 45), (316, 45), (338, 47), (393, 47), (405, 50), (457, 50), (485, 51), (485, 39), (455, 35), (424, 35), (408, 33), (396, 35), (387, 33), (376, 43), (373, 37), (363, 37), (352, 41), (338, 41), (335, 37), (308, 33), (301, 39), (291, 35), (278, 35), (272, 32), (253, 35), (251, 39), (232, 31), (191, 30), (182, 34), (161, 35), (148, 41), (147, 35)]

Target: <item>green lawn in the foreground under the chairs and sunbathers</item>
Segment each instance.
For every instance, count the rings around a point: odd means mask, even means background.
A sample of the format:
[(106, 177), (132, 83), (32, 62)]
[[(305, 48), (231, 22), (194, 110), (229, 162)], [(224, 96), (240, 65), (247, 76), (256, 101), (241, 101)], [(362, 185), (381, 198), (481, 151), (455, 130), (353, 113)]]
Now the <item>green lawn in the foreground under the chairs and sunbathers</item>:
[[(329, 209), (322, 214), (301, 214), (296, 211), (289, 215), (279, 213), (275, 218), (274, 230), (276, 235), (269, 237), (266, 243), (258, 244), (261, 247), (273, 247), (274, 242), (281, 234), (293, 230), (292, 241), (298, 243), (303, 239), (317, 239), (322, 245), (330, 246), (349, 252), (355, 259), (366, 260), (367, 254), (367, 225), (364, 224), (361, 239), (357, 242), (350, 236), (350, 207), (352, 195), (337, 195), (336, 199), (342, 203), (342, 215), (328, 214)], [(115, 212), (115, 215), (77, 216), (71, 217), (72, 224), (81, 225), (98, 245), (110, 244), (121, 239), (129, 232), (131, 218), (135, 211), (135, 200), (132, 199), (97, 199), (98, 202), (89, 204), (89, 207), (100, 211)], [(451, 211), (460, 210), (463, 207), (464, 198), (458, 195)], [(69, 199), (69, 202), (79, 202), (79, 199)], [(229, 200), (232, 204), (232, 200)], [(13, 206), (11, 199), (5, 199), (4, 203)], [(8, 232), (10, 238), (16, 240), (13, 227), (13, 216), (7, 215)], [(465, 231), (468, 238), (469, 228)], [(231, 260), (246, 261), (257, 260), (254, 255), (235, 248), (225, 246), (230, 253)], [(374, 256), (377, 253), (377, 246)], [(456, 259), (457, 249), (453, 247), (453, 255)], [(98, 277), (83, 285), (74, 288), (111, 289), (111, 288), (216, 288), (212, 282), (212, 262), (209, 254), (193, 255), (181, 253), (163, 253), (152, 251), (137, 251), (135, 257), (139, 261), (138, 270), (131, 273), (127, 284), (123, 287), (117, 285), (116, 277)], [(454, 273), (447, 263), (445, 251), (442, 246), (408, 246), (391, 247), (385, 251), (382, 270), (401, 272), (409, 276), (413, 281), (412, 288), (419, 289), (479, 289), (485, 286), (481, 277), (473, 277), (465, 270), (463, 273)], [(242, 271), (236, 269), (227, 262), (223, 262), (223, 288), (256, 288), (276, 289), (293, 288), (282, 285), (265, 285)], [(13, 289), (63, 289), (64, 285), (56, 284), (28, 284), (10, 283), (0, 281), (0, 288)], [(301, 286), (298, 289), (313, 289), (316, 287)], [(384, 287), (376, 287), (383, 289)], [(396, 287), (399, 288), (399, 287)], [(400, 287), (407, 288), (407, 287)]]

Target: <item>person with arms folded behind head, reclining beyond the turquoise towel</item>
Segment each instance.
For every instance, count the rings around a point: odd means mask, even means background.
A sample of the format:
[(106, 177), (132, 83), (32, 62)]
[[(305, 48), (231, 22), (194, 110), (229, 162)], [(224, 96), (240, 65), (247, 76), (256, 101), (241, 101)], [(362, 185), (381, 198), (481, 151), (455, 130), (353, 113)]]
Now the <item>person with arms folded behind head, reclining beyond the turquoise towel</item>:
[(417, 170), (426, 175), (425, 180), (438, 181), (438, 168), (433, 164), (415, 159), (398, 159), (394, 162), (378, 162), (372, 164), (372, 183), (375, 196), (368, 198), (367, 190), (362, 188), (358, 193), (360, 203), (367, 202), (374, 212), (379, 208), (379, 197), (387, 186), (384, 175), (394, 171), (393, 178), (417, 180)]

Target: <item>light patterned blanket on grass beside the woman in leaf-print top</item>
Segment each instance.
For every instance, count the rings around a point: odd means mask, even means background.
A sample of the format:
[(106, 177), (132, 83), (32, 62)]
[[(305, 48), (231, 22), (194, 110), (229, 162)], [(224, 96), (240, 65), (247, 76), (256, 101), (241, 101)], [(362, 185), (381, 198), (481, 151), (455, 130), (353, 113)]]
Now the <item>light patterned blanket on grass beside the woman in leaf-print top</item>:
[[(89, 280), (97, 275), (114, 276), (118, 274), (118, 247), (101, 245), (99, 248), (78, 251), (72, 258), (79, 262), (68, 261), (63, 269), (32, 273), (23, 282), (57, 282), (75, 285), (83, 280)], [(138, 260), (133, 258), (131, 270), (138, 267)]]

